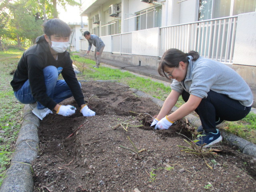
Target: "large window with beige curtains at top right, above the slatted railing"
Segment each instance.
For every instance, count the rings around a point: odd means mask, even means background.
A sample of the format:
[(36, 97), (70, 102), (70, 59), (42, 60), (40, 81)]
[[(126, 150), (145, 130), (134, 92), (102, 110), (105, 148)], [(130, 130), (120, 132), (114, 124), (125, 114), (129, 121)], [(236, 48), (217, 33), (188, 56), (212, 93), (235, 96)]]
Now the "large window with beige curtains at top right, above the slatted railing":
[(256, 11), (256, 0), (199, 0), (198, 20), (208, 20)]

